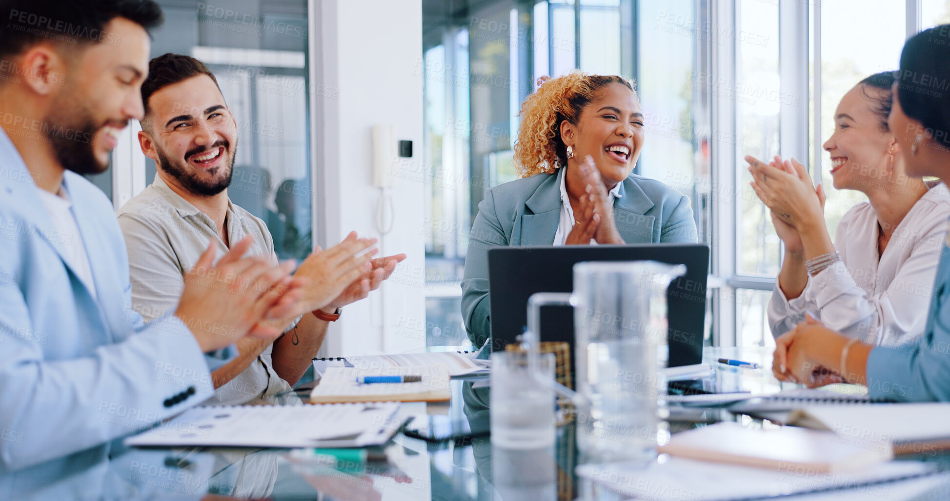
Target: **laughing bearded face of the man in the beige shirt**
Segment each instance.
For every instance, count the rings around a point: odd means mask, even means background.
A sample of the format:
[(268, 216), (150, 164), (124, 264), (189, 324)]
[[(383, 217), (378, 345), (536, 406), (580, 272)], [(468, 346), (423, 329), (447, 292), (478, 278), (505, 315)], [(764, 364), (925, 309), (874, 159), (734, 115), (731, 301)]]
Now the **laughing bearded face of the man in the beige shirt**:
[(139, 134), (139, 143), (161, 173), (198, 196), (211, 197), (227, 188), (237, 153), (237, 123), (215, 82), (201, 74), (161, 87), (148, 105), (148, 130)]

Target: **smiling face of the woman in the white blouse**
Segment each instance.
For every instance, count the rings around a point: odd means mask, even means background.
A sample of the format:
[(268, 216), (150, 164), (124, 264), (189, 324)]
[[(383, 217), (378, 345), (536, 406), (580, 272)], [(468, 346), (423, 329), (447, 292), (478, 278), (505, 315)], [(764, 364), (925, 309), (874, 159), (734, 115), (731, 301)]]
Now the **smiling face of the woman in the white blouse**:
[(884, 131), (879, 117), (864, 97), (887, 91), (859, 84), (849, 90), (835, 110), (834, 133), (825, 142), (831, 155), (831, 179), (837, 189), (863, 190), (887, 178), (890, 151), (898, 147), (894, 135)]

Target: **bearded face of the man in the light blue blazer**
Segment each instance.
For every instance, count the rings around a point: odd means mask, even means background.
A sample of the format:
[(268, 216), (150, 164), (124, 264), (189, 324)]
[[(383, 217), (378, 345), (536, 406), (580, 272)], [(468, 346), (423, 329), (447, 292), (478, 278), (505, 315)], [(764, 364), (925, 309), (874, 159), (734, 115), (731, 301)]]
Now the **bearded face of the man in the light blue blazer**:
[(104, 32), (121, 43), (96, 43), (68, 63), (63, 90), (45, 118), (47, 138), (65, 168), (79, 174), (104, 172), (119, 133), (142, 118), (140, 89), (148, 72), (145, 29), (117, 17)]

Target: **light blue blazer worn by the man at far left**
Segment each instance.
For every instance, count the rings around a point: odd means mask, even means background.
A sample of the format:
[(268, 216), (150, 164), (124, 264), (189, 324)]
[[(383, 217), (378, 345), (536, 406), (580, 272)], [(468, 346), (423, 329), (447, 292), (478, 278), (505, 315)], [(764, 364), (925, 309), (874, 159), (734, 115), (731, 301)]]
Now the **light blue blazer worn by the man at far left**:
[[(111, 203), (70, 172), (64, 187), (80, 235), (58, 233), (28, 174), (0, 181), (0, 473), (76, 468), (213, 393), (188, 327), (171, 316), (144, 325), (132, 310)], [(85, 245), (95, 295), (66, 245)]]

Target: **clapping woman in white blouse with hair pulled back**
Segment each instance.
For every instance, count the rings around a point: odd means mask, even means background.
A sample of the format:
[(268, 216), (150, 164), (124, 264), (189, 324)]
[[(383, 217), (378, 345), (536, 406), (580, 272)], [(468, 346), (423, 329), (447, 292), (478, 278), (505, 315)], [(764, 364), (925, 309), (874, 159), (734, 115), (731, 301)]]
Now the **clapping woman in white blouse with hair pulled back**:
[(771, 209), (786, 255), (769, 302), (769, 325), (780, 336), (808, 313), (829, 329), (884, 346), (921, 336), (950, 217), (942, 183), (928, 189), (908, 178), (887, 128), (890, 72), (864, 79), (835, 110), (825, 143), (837, 189), (864, 193), (838, 223), (832, 245), (825, 193), (802, 164), (746, 157), (755, 193)]

